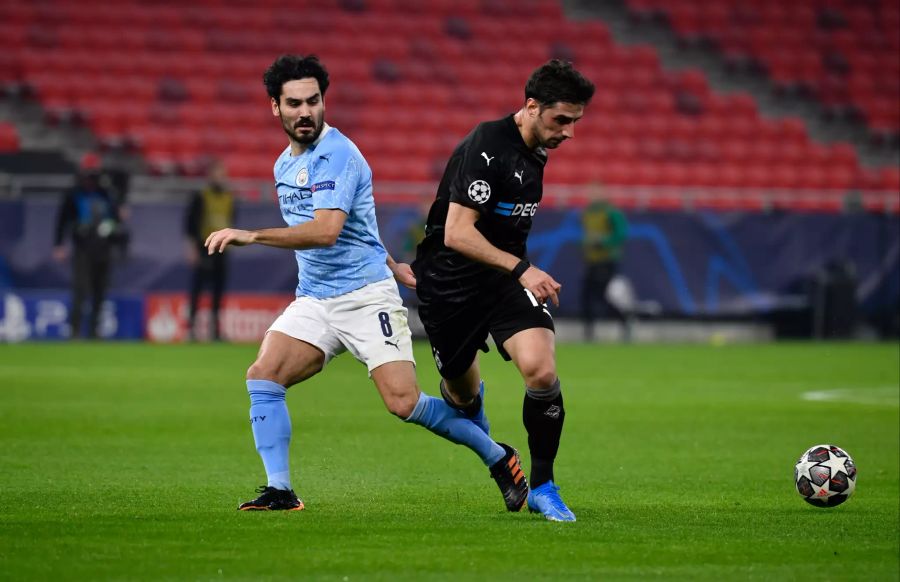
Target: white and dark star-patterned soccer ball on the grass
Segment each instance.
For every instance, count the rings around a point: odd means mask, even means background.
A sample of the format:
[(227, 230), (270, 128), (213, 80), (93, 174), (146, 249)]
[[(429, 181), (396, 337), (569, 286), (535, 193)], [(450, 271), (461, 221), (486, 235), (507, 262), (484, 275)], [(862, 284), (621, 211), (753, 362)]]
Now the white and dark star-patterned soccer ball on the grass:
[(816, 445), (797, 461), (794, 485), (807, 503), (816, 507), (834, 507), (853, 495), (856, 465), (840, 447)]

